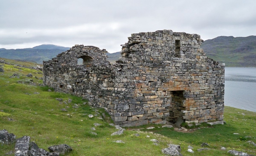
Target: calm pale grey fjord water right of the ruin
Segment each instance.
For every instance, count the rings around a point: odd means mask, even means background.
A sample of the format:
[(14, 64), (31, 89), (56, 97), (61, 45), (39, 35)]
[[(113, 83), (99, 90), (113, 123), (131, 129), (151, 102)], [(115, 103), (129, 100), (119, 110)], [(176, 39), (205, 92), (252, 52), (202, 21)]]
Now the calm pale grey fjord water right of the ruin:
[(256, 68), (225, 67), (224, 103), (256, 112)]

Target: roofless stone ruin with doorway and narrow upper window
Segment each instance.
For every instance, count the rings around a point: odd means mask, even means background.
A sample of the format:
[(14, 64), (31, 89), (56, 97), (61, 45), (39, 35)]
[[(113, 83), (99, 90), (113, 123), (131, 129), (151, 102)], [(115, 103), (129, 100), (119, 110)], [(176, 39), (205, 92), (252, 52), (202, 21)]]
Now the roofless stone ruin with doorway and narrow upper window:
[(116, 64), (105, 49), (75, 45), (43, 62), (43, 83), (88, 99), (120, 126), (223, 120), (225, 64), (206, 57), (202, 42), (172, 30), (131, 34)]

